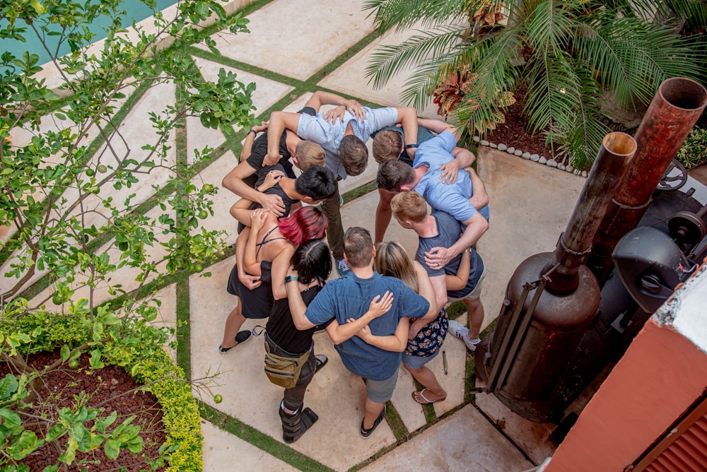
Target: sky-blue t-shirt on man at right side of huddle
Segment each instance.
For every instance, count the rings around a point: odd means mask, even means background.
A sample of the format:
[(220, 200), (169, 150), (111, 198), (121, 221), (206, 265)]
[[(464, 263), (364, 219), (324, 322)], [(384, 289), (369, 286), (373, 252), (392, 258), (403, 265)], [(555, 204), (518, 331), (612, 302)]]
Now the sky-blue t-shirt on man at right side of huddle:
[[(445, 184), (440, 177), (443, 171), (440, 167), (454, 159), (452, 151), (457, 146), (457, 139), (449, 131), (443, 131), (434, 138), (421, 143), (415, 153), (412, 167), (422, 165), (429, 170), (422, 176), (414, 188), (432, 208), (450, 213), (457, 221), (464, 222), (477, 213), (477, 209), (469, 203), (474, 195), (472, 179), (466, 171), (460, 170), (457, 181)], [(489, 219), (489, 206), (486, 205), (478, 212)]]

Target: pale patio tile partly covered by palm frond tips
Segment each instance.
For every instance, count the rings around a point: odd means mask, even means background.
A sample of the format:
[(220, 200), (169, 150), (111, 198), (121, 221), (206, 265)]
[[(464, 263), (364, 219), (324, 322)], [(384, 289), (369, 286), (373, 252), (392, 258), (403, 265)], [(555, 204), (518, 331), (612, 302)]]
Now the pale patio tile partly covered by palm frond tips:
[[(419, 28), (422, 28), (419, 26)], [(403, 69), (393, 76), (382, 88), (374, 88), (373, 82), (366, 77), (366, 68), (369, 65), (370, 54), (375, 52), (381, 45), (398, 45), (407, 40), (408, 37), (419, 34), (418, 31), (395, 32), (395, 28), (388, 30), (384, 35), (373, 40), (368, 46), (361, 49), (354, 57), (341, 64), (336, 70), (327, 74), (318, 83), (322, 88), (330, 88), (347, 95), (354, 95), (363, 100), (380, 103), (382, 106), (407, 106), (401, 93), (405, 88), (413, 69)], [(429, 100), (428, 105), (423, 110), (418, 110), (418, 116), (425, 118), (441, 119), (437, 114), (437, 105)]]

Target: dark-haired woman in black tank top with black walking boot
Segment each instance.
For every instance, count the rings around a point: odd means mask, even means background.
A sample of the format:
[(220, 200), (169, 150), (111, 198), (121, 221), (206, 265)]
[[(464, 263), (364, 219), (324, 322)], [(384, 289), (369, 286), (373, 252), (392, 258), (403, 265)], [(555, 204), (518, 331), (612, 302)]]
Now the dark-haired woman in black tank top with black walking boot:
[[(329, 273), (332, 272), (332, 258), (329, 247), (322, 240), (309, 240), (300, 245), (292, 256), (291, 264), (298, 276), (286, 278), (286, 283), (297, 284), (302, 301), (309, 305), (315, 295), (322, 290)], [(282, 439), (291, 443), (299, 439), (318, 419), (310, 408), (303, 408), (307, 387), (315, 372), (327, 363), (325, 355), (314, 354), (312, 335), (316, 328), (298, 330), (292, 319), (291, 304), (299, 300), (283, 298), (275, 300), (267, 321), (265, 342), (270, 352), (284, 357), (299, 358), (310, 352), (302, 367), (295, 387), (285, 389), (280, 403), (279, 414), (282, 421)]]

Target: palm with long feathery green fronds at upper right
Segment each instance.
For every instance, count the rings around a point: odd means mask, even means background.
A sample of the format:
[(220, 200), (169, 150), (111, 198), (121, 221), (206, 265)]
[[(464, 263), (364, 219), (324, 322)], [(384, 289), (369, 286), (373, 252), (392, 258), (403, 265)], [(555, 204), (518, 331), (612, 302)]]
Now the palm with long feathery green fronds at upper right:
[(530, 130), (546, 133), (575, 168), (591, 165), (608, 131), (602, 93), (630, 109), (650, 102), (665, 78), (704, 77), (704, 1), (368, 0), (364, 8), (380, 28), (423, 28), (374, 52), (367, 76), (376, 87), (414, 66), (401, 96), (423, 107), (456, 81), (451, 114), (472, 130), (525, 82)]

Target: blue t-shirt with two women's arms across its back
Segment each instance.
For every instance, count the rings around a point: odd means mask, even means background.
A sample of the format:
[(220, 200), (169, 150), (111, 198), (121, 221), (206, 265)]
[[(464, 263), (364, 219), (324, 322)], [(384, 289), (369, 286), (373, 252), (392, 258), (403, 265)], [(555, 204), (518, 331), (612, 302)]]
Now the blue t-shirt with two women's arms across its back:
[[(371, 333), (388, 336), (395, 333), (401, 318), (423, 317), (430, 308), (429, 302), (414, 293), (397, 278), (381, 276), (374, 272), (371, 278), (358, 278), (356, 274), (327, 282), (322, 291), (307, 307), (307, 319), (313, 324), (326, 325), (332, 320), (346, 324), (349, 318), (358, 319), (368, 311), (376, 295), (393, 293), (390, 310), (368, 324)], [(401, 353), (382, 350), (363, 341), (358, 336), (335, 346), (349, 371), (371, 380), (389, 379), (397, 370)]]

